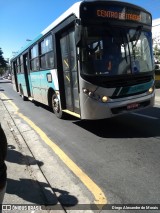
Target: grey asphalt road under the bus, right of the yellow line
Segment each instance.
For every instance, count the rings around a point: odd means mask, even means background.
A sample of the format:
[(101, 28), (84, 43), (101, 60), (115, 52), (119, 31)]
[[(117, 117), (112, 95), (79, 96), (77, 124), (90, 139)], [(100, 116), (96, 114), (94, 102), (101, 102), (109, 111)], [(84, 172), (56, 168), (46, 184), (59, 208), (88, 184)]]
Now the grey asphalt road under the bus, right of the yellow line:
[(153, 108), (98, 121), (60, 120), (47, 107), (24, 102), (11, 83), (2, 80), (0, 90), (97, 183), (109, 203), (160, 204), (160, 89)]

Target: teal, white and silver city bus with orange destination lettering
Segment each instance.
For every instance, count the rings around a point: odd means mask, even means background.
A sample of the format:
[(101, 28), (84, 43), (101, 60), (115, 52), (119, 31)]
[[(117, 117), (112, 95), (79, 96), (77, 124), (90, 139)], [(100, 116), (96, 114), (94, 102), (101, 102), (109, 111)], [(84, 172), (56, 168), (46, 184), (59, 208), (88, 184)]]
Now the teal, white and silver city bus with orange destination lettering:
[(11, 60), (22, 98), (105, 119), (154, 104), (152, 16), (120, 1), (75, 3)]

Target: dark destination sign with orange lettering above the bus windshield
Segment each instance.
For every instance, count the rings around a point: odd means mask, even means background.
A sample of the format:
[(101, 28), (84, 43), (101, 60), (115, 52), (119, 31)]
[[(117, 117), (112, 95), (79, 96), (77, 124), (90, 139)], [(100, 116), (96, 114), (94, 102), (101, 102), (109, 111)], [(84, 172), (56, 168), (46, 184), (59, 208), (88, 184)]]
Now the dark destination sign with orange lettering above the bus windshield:
[(82, 22), (94, 22), (101, 20), (119, 20), (138, 22), (146, 25), (152, 24), (152, 17), (147, 11), (143, 11), (138, 6), (131, 7), (125, 3), (116, 4), (83, 4), (81, 7)]

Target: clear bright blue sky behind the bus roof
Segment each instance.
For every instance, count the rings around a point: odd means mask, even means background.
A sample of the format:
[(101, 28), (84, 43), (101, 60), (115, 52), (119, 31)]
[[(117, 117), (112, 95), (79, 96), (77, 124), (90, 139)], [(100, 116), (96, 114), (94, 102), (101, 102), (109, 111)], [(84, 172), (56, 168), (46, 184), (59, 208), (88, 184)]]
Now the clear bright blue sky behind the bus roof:
[[(79, 0), (77, 0), (79, 1)], [(76, 0), (0, 0), (0, 48), (5, 59), (37, 37)], [(160, 0), (123, 0), (160, 18)]]

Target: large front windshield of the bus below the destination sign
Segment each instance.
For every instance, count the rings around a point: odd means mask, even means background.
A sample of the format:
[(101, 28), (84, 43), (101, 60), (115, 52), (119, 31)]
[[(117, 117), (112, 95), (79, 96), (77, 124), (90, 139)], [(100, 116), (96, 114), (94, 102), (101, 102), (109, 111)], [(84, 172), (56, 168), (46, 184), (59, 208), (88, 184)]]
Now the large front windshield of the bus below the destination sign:
[[(95, 30), (96, 29), (96, 30)], [(151, 32), (137, 28), (85, 27), (82, 74), (129, 75), (153, 71)]]

